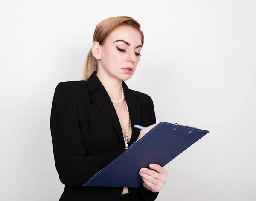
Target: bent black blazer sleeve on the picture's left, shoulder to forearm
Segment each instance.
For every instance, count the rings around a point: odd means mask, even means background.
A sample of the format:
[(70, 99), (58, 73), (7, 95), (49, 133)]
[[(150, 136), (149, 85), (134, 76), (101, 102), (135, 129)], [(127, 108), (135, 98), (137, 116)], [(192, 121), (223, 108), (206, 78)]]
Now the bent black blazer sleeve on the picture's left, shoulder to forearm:
[(54, 91), (50, 114), (55, 167), (60, 181), (68, 186), (82, 186), (94, 174), (125, 149), (88, 155), (80, 130), (73, 89), (60, 82)]

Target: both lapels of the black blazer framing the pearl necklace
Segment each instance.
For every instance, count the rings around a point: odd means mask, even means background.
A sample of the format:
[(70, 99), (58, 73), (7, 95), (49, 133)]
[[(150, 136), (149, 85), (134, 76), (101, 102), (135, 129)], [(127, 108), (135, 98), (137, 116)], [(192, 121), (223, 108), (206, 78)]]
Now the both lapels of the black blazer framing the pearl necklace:
[[(138, 129), (134, 128), (135, 124), (140, 125), (141, 123), (141, 102), (137, 100), (138, 98), (131, 93), (130, 89), (127, 87), (124, 81), (122, 81), (124, 88), (125, 99), (128, 105), (130, 119), (131, 119), (131, 129), (132, 136), (131, 142), (134, 143), (139, 135)], [(108, 92), (100, 82), (99, 78), (96, 76), (96, 71), (89, 77), (87, 80), (88, 91), (90, 93), (90, 99), (95, 103), (99, 110), (106, 116), (108, 121), (116, 130), (116, 133), (119, 135), (119, 138), (125, 147), (124, 137), (122, 133), (122, 128), (115, 110), (111, 98), (108, 95)]]

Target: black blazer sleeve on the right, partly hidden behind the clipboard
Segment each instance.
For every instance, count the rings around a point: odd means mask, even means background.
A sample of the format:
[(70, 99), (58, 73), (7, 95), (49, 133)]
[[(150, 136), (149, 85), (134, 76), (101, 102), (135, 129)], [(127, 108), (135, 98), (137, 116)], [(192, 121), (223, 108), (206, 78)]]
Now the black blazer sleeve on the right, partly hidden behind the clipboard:
[[(154, 111), (153, 100), (151, 99), (150, 96), (148, 96), (148, 108), (151, 111), (151, 115), (149, 116), (149, 118), (150, 118), (149, 122), (150, 122), (150, 125), (152, 125), (152, 124), (156, 123), (156, 115), (155, 115), (155, 111)], [(159, 192), (152, 192), (151, 190), (146, 189), (143, 186), (143, 184), (141, 184), (138, 187), (138, 190), (145, 201), (154, 201), (159, 194)]]

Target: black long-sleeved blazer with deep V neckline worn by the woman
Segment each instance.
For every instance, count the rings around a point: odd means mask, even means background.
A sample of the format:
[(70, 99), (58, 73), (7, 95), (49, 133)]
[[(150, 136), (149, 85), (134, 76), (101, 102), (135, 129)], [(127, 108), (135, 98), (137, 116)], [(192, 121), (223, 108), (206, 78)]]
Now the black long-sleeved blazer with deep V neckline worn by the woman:
[[(122, 82), (129, 108), (132, 135), (134, 125), (148, 127), (156, 122), (150, 96), (131, 90)], [(60, 82), (55, 88), (50, 115), (55, 167), (65, 184), (60, 201), (120, 201), (123, 187), (83, 187), (94, 174), (125, 151), (116, 110), (94, 72), (87, 81)], [(158, 193), (141, 184), (128, 188), (133, 201), (154, 201)]]

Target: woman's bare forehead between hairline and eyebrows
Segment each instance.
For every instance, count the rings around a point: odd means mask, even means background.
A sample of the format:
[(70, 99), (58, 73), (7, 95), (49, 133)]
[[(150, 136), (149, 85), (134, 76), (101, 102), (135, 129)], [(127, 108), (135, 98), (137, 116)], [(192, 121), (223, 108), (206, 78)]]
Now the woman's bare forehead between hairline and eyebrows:
[(113, 43), (119, 39), (129, 42), (132, 46), (142, 45), (140, 32), (137, 29), (129, 27), (129, 26), (120, 26), (120, 27), (116, 28), (106, 38), (106, 42), (108, 41), (108, 42)]

